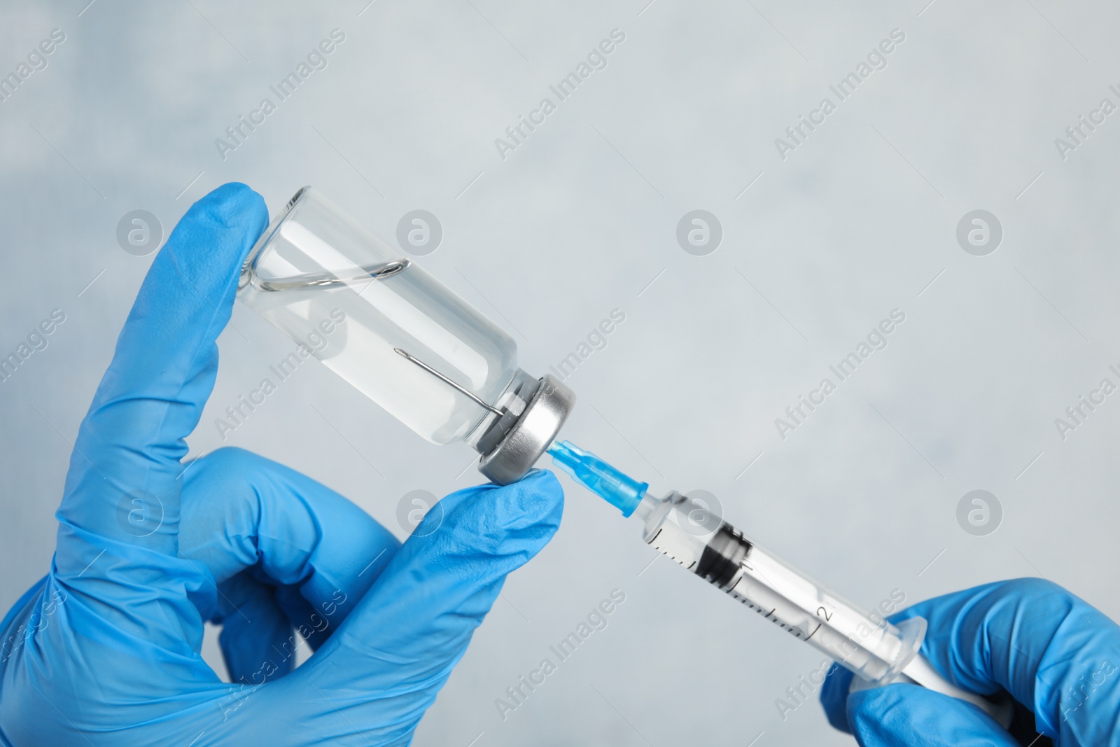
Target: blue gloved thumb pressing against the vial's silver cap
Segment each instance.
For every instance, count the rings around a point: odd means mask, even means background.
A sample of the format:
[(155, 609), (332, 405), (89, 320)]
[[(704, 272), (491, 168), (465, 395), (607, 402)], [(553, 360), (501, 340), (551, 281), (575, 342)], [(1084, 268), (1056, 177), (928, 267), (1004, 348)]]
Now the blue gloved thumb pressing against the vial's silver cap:
[(307, 665), (274, 684), (310, 678), (330, 708), (355, 727), (364, 721), (366, 734), (411, 732), (506, 575), (548, 543), (562, 510), (563, 491), (544, 470), (447, 496)]

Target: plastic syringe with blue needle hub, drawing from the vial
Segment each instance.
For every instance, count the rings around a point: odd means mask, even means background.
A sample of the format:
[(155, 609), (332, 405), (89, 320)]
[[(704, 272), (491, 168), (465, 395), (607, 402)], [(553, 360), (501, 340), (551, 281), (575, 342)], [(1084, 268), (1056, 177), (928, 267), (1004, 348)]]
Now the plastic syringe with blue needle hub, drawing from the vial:
[(995, 703), (945, 680), (918, 653), (926, 620), (892, 624), (833, 594), (675, 491), (657, 498), (640, 483), (570, 441), (552, 443), (553, 461), (592, 493), (645, 524), (643, 539), (778, 627), (856, 674), (852, 689), (894, 682), (924, 685), (973, 703), (1005, 728), (1012, 703)]

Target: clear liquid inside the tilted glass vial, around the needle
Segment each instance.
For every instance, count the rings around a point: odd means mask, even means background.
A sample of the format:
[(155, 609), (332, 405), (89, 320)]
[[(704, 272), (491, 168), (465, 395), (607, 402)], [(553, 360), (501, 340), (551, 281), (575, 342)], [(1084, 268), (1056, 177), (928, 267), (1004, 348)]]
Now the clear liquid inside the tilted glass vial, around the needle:
[[(514, 340), (416, 263), (377, 279), (318, 287), (298, 277), (262, 282), (252, 267), (246, 273), (241, 300), (433, 443), (467, 437), (487, 411), (394, 348), (491, 404), (517, 372)], [(283, 363), (279, 367), (287, 375)]]

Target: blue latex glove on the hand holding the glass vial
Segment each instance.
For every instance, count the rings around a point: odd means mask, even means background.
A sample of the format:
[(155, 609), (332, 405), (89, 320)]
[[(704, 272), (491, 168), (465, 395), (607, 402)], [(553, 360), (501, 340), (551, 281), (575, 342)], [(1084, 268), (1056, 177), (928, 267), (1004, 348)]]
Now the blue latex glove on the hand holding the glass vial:
[[(246, 451), (183, 474), (267, 222), (225, 185), (152, 263), (78, 430), (50, 572), (0, 624), (0, 743), (407, 744), (506, 573), (556, 532), (545, 471), (449, 495), (403, 545)], [(199, 655), (205, 620), (224, 624), (234, 684)], [(293, 629), (317, 651), (291, 671)]]

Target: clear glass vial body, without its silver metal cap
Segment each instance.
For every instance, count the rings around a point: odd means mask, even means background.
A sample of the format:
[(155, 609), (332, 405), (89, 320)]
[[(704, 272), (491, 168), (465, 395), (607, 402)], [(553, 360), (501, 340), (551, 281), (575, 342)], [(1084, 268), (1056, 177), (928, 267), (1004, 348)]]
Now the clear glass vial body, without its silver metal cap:
[(536, 389), (510, 335), (310, 187), (250, 252), (237, 297), (432, 443), (483, 450)]

